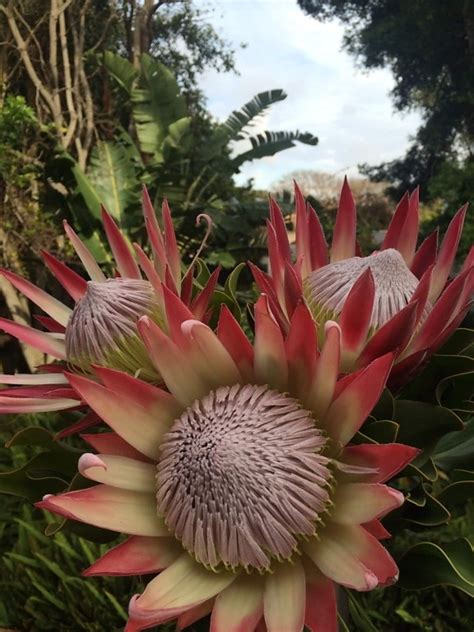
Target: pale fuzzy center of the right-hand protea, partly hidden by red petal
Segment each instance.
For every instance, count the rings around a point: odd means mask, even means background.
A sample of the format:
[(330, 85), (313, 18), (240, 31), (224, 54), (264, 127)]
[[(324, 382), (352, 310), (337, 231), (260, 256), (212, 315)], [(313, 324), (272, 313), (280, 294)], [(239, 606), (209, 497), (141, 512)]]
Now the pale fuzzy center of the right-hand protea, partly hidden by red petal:
[(305, 297), (317, 320), (337, 317), (360, 275), (370, 268), (375, 297), (371, 326), (379, 328), (410, 301), (418, 279), (394, 248), (369, 257), (351, 257), (314, 270), (304, 281)]

